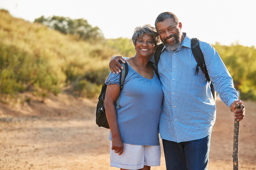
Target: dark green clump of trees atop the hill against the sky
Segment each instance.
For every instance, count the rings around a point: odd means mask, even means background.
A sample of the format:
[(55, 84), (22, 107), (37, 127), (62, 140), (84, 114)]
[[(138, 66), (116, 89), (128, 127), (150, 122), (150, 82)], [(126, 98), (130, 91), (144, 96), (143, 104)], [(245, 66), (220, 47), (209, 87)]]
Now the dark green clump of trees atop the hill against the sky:
[(87, 20), (70, 19), (63, 16), (52, 16), (45, 18), (41, 16), (34, 22), (42, 23), (48, 28), (55, 29), (64, 34), (78, 35), (79, 39), (97, 41), (103, 39), (103, 33), (98, 27), (92, 27)]

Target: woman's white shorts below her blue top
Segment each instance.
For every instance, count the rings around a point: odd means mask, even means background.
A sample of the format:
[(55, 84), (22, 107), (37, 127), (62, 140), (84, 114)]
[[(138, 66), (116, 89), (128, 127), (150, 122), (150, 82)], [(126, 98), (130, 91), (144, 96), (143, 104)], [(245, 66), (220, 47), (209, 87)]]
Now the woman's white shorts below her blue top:
[(112, 150), (110, 141), (110, 166), (137, 170), (146, 166), (159, 166), (161, 159), (161, 148), (159, 146), (131, 145), (123, 143), (124, 151), (121, 155)]

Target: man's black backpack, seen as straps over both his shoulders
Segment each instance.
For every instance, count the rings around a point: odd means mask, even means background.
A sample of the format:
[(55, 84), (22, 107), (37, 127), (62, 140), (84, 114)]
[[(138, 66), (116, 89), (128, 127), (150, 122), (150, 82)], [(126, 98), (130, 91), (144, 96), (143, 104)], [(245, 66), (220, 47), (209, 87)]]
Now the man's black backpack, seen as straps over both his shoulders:
[[(156, 67), (158, 66), (158, 62), (159, 62), (160, 55), (162, 53), (163, 46), (164, 46), (163, 44), (159, 44), (158, 47), (157, 47), (157, 50), (155, 51), (155, 65), (156, 65)], [(202, 50), (200, 49), (199, 40), (197, 38), (192, 38), (191, 39), (191, 50), (192, 50), (193, 56), (195, 57), (196, 62), (197, 62), (196, 74), (198, 74), (199, 67), (200, 67), (201, 70), (203, 71), (206, 79), (208, 80), (208, 82), (211, 82), (211, 80), (209, 78), (209, 75), (208, 75), (208, 71), (206, 69), (205, 62), (204, 62), (204, 55), (202, 53)], [(158, 75), (158, 78), (159, 78), (158, 72), (157, 72), (157, 75)], [(211, 87), (212, 96), (213, 96), (213, 98), (216, 102), (216, 92), (214, 90), (212, 82), (210, 84), (210, 87)]]

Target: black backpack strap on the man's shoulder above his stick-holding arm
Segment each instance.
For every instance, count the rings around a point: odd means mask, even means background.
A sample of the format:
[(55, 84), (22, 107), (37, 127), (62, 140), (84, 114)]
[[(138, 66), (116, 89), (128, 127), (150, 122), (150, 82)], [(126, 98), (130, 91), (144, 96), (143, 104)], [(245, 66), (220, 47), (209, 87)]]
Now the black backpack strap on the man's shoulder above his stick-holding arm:
[(205, 65), (205, 62), (204, 62), (204, 55), (202, 53), (202, 50), (200, 49), (200, 46), (199, 46), (199, 40), (197, 38), (192, 38), (191, 39), (191, 50), (192, 50), (192, 53), (196, 59), (196, 62), (197, 62), (197, 66), (196, 66), (196, 73), (198, 74), (198, 67), (201, 68), (201, 70), (203, 71), (206, 79), (208, 80), (208, 82), (210, 82), (210, 78), (209, 78), (209, 75), (208, 75), (208, 72), (207, 72), (207, 69), (206, 69), (206, 65)]

